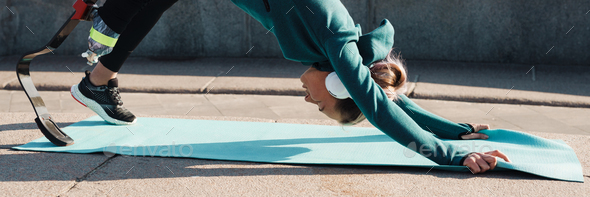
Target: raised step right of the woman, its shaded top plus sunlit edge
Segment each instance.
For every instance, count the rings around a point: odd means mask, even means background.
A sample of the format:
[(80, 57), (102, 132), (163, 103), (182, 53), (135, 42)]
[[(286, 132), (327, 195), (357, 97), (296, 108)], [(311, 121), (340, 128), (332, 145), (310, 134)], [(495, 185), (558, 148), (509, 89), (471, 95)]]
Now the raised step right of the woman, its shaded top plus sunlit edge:
[(415, 98), (468, 102), (590, 106), (588, 66), (408, 61)]

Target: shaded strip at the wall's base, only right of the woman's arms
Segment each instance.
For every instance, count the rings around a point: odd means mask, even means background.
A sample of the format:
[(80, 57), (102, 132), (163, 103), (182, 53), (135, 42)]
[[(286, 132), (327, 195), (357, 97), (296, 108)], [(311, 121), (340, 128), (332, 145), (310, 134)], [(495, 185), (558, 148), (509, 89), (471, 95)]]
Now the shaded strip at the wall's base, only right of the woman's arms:
[(424, 83), (590, 96), (590, 66), (408, 61), (407, 67), (410, 81), (419, 75)]

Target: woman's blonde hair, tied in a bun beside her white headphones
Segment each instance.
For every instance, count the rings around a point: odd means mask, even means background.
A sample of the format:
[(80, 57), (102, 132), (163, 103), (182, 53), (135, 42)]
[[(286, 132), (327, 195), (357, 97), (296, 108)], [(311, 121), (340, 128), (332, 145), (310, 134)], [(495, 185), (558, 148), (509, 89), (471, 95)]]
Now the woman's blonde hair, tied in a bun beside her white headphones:
[[(374, 63), (370, 70), (371, 78), (385, 91), (389, 99), (395, 100), (397, 95), (407, 91), (406, 66), (401, 55), (393, 52), (393, 49), (385, 59)], [(342, 117), (339, 121), (341, 124), (354, 125), (365, 120), (365, 115), (351, 98), (338, 99), (336, 110)]]

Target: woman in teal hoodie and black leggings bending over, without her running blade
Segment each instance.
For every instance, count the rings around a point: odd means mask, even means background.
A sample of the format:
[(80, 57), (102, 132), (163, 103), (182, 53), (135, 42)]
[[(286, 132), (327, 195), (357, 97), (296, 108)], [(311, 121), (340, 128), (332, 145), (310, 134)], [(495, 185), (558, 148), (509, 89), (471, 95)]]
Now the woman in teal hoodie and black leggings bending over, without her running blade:
[[(474, 173), (493, 169), (497, 163), (495, 156), (509, 161), (499, 151), (469, 153), (434, 136), (486, 139), (484, 134), (471, 132), (487, 127), (450, 122), (421, 109), (403, 94), (394, 93), (404, 86), (406, 72), (399, 59), (390, 55), (394, 31), (389, 21), (383, 20), (377, 29), (362, 35), (339, 0), (232, 1), (275, 34), (285, 58), (313, 65), (301, 76), (308, 93), (305, 100), (317, 104), (330, 118), (354, 124), (366, 117), (395, 141), (432, 161), (441, 165), (465, 165)], [(102, 114), (107, 122), (133, 124), (135, 116), (121, 107), (117, 71), (174, 2), (107, 1), (95, 14), (93, 28), (112, 37), (111, 40), (116, 40), (119, 34), (121, 37), (112, 49), (101, 43), (101, 39), (90, 36), (89, 43), (93, 43), (90, 51), (106, 54), (112, 50), (112, 53), (103, 57), (92, 73), (87, 72), (79, 85), (72, 87), (74, 98), (87, 106), (97, 106), (91, 109)], [(109, 47), (103, 47), (105, 44)], [(91, 88), (95, 89), (92, 93)], [(94, 98), (98, 93), (106, 95), (101, 98), (111, 99)]]

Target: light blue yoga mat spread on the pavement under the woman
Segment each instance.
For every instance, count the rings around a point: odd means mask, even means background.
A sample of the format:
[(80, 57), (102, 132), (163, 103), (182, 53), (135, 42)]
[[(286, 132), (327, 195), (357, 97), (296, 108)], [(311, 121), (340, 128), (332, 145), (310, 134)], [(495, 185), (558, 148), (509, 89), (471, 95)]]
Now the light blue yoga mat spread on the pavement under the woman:
[[(290, 164), (435, 166), (469, 171), (465, 166), (437, 165), (375, 128), (164, 118), (139, 118), (135, 125), (114, 126), (94, 116), (62, 130), (76, 140), (74, 145), (57, 147), (39, 138), (14, 149)], [(584, 181), (576, 154), (561, 140), (501, 129), (482, 133), (490, 138), (449, 142), (473, 152), (504, 152), (512, 163), (499, 159), (496, 170)]]

